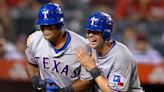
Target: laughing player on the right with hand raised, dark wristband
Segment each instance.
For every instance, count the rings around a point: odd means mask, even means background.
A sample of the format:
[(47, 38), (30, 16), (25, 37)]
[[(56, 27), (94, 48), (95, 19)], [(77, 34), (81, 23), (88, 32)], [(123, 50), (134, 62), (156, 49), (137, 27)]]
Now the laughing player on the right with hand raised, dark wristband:
[(86, 27), (92, 53), (78, 48), (76, 55), (94, 79), (99, 92), (142, 92), (136, 62), (128, 48), (111, 39), (113, 20), (110, 15), (95, 12)]

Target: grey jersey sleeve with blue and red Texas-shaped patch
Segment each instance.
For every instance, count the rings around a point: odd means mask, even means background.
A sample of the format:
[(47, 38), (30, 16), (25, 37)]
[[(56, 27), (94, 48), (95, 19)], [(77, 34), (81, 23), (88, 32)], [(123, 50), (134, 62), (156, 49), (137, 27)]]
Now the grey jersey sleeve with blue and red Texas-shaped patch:
[(133, 63), (122, 57), (116, 58), (110, 71), (108, 83), (113, 91), (128, 91), (132, 75)]

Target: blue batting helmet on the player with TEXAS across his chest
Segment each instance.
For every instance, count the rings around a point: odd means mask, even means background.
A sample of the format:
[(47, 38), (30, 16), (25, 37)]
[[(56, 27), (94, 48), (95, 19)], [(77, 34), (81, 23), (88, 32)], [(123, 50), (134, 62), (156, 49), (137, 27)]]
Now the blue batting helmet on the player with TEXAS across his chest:
[(61, 7), (56, 3), (47, 3), (39, 10), (37, 25), (56, 25), (62, 28), (64, 25), (64, 14)]

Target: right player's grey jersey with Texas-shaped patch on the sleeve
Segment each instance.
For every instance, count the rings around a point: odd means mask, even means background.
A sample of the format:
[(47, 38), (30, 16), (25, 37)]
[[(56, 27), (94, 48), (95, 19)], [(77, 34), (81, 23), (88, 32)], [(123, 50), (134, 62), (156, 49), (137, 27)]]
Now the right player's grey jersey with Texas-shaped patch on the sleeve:
[[(112, 92), (142, 92), (136, 62), (125, 45), (113, 41), (112, 49), (102, 57), (94, 49), (92, 51), (95, 53), (96, 65), (108, 80)], [(92, 79), (90, 74), (88, 79)]]

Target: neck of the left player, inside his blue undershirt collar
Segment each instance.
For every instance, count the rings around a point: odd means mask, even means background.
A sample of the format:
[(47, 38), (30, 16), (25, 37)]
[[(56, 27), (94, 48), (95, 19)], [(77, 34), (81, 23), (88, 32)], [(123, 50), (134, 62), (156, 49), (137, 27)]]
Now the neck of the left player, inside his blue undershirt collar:
[(67, 40), (67, 35), (65, 31), (62, 31), (59, 36), (54, 41), (54, 48), (60, 49), (64, 46), (65, 42)]

